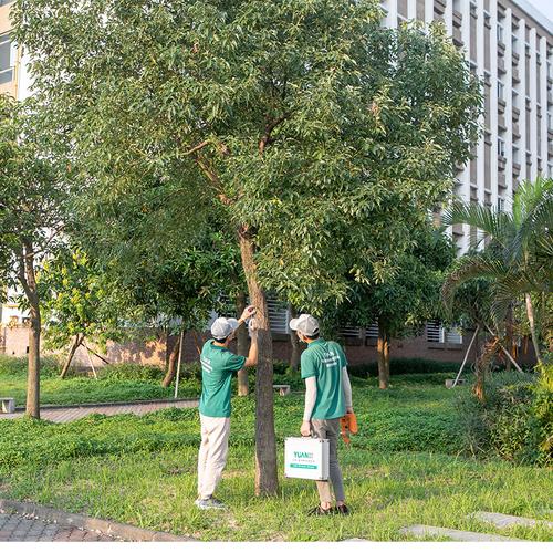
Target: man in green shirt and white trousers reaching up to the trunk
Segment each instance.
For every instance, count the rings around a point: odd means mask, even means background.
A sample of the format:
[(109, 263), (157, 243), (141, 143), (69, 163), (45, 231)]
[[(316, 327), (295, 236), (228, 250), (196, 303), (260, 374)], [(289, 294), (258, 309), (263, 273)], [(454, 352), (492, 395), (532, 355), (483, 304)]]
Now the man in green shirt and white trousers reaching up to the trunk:
[(254, 321), (250, 324), (251, 345), (248, 357), (236, 355), (229, 349), (236, 331), (255, 313), (250, 305), (240, 319), (219, 317), (211, 325), (211, 340), (201, 349), (201, 396), (200, 424), (201, 445), (198, 456), (199, 509), (225, 509), (213, 497), (227, 463), (230, 434), (230, 390), (232, 375), (241, 368), (258, 363), (258, 332)]

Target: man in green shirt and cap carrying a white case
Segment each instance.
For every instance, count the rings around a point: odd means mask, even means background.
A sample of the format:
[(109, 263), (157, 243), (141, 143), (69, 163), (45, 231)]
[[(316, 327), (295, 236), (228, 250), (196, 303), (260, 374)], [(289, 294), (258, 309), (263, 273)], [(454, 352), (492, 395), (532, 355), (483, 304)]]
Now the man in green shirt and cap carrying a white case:
[(321, 337), (319, 321), (311, 315), (302, 314), (292, 319), (290, 328), (296, 332), (301, 342), (307, 344), (301, 356), (305, 408), (300, 431), (302, 436), (328, 440), (328, 472), (336, 499), (333, 509), (330, 483), (317, 480), (320, 504), (309, 514), (349, 514), (337, 458), (340, 419), (346, 413), (353, 413), (352, 386), (344, 351), (336, 342), (326, 342)]

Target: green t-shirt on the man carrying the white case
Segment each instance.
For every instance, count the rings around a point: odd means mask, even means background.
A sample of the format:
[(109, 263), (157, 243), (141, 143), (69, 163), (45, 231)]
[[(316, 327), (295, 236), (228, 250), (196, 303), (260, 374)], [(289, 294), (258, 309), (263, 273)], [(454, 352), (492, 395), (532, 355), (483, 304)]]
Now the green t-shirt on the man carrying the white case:
[(316, 400), (311, 418), (331, 419), (346, 413), (342, 368), (347, 365), (344, 351), (336, 342), (315, 340), (302, 353), (302, 378), (316, 378)]

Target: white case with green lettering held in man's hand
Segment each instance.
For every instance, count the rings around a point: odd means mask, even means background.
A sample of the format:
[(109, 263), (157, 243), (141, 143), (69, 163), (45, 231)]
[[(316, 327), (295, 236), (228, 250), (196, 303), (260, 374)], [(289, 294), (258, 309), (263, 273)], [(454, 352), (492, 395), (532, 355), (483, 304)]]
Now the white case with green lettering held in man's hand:
[(284, 476), (306, 480), (328, 480), (328, 440), (286, 438)]

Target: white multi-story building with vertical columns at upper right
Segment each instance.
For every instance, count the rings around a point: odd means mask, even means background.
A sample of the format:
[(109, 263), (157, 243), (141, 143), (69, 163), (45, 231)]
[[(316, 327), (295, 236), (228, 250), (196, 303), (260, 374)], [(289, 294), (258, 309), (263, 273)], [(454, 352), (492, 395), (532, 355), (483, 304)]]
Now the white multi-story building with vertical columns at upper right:
[[(484, 82), (484, 134), (455, 192), (510, 210), (524, 179), (553, 176), (553, 23), (526, 0), (383, 0), (383, 23), (441, 21)], [(452, 228), (459, 251), (474, 229)]]

